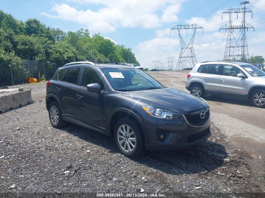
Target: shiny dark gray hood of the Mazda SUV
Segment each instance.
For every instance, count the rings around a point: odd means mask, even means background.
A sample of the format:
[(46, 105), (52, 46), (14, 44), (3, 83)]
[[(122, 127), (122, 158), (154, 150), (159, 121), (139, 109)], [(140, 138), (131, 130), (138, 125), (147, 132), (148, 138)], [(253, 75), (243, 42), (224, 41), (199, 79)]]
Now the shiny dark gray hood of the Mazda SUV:
[(185, 114), (189, 111), (202, 109), (209, 105), (203, 100), (178, 89), (148, 89), (142, 91), (122, 92), (124, 96), (141, 100), (162, 109)]

